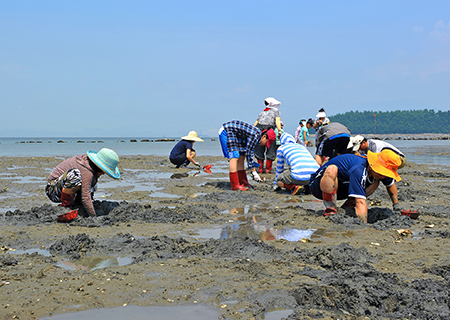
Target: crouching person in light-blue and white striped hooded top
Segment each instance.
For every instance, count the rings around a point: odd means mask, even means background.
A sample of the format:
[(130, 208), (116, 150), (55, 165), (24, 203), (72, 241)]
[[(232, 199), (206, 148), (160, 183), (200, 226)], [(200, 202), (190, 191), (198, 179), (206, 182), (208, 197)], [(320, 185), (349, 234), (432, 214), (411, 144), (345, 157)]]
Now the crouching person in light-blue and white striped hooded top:
[(309, 184), (311, 174), (319, 169), (319, 165), (306, 147), (295, 143), (295, 138), (289, 133), (283, 133), (280, 142), (274, 189), (286, 188), (296, 195)]

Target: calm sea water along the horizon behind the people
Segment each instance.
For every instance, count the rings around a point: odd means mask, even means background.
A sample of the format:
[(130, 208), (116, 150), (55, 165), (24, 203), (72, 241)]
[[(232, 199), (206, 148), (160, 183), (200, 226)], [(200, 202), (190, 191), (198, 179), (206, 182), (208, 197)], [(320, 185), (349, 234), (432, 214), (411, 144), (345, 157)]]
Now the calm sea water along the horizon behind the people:
[[(87, 150), (110, 148), (121, 155), (168, 156), (179, 141), (156, 142), (158, 138), (0, 138), (0, 156), (62, 156), (70, 157)], [(134, 142), (134, 140), (136, 142)], [(150, 140), (147, 142), (147, 140)], [(409, 162), (450, 166), (450, 141), (448, 140), (389, 140), (405, 153)], [(196, 142), (199, 156), (222, 156), (218, 139), (206, 138)], [(314, 154), (315, 148), (308, 148)]]

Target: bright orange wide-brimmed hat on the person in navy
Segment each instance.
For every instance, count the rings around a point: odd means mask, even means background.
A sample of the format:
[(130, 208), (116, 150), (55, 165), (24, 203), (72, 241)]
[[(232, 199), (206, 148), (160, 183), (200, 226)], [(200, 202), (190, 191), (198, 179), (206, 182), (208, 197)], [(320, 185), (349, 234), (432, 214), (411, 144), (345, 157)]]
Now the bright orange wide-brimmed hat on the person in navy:
[(369, 150), (367, 152), (367, 160), (370, 168), (376, 173), (393, 178), (395, 181), (402, 180), (397, 173), (397, 169), (402, 164), (402, 161), (394, 151), (384, 149), (380, 153), (376, 153)]

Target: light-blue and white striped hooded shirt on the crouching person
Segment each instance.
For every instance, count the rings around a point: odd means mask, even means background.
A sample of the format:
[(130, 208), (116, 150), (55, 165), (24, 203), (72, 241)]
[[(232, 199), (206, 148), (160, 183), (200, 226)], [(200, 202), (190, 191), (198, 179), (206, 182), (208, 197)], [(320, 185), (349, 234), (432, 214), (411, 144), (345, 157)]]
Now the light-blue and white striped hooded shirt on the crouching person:
[(295, 180), (309, 181), (311, 174), (319, 169), (319, 165), (306, 147), (295, 143), (295, 139), (289, 133), (281, 135), (281, 146), (277, 150), (277, 172), (275, 181), (280, 175), (285, 164), (291, 168), (291, 176)]

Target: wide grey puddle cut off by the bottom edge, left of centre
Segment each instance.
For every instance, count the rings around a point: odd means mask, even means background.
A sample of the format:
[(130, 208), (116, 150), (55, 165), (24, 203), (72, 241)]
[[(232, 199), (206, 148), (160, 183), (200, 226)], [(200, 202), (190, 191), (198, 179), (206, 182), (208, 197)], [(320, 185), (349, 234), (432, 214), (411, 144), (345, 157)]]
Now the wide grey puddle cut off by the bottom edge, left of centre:
[(194, 306), (167, 306), (167, 307), (138, 307), (126, 306), (111, 309), (96, 309), (52, 315), (41, 320), (78, 320), (78, 319), (108, 319), (108, 320), (156, 320), (156, 319), (183, 319), (183, 320), (211, 320), (217, 319), (220, 314), (201, 305)]

